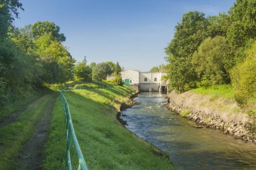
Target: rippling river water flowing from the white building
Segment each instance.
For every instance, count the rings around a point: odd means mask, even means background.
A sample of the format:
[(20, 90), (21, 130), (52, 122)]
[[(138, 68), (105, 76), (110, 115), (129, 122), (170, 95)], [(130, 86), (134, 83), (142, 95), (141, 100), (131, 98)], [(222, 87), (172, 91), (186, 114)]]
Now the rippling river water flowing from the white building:
[(148, 140), (183, 169), (256, 169), (256, 145), (236, 140), (221, 130), (195, 128), (197, 124), (170, 112), (166, 94), (139, 93), (123, 111), (126, 128)]

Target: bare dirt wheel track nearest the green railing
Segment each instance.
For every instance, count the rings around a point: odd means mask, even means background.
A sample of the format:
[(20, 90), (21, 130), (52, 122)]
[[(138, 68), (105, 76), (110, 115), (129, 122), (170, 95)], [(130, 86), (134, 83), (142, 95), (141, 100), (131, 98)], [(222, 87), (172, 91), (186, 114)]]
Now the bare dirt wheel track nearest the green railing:
[(44, 110), (44, 115), (41, 120), (35, 126), (35, 132), (28, 140), (18, 158), (18, 169), (22, 170), (35, 170), (42, 169), (42, 152), (44, 149), (44, 144), (46, 142), (46, 137), (49, 130), (49, 125), (51, 122), (51, 112), (55, 104), (57, 96), (54, 95), (46, 104), (46, 109)]

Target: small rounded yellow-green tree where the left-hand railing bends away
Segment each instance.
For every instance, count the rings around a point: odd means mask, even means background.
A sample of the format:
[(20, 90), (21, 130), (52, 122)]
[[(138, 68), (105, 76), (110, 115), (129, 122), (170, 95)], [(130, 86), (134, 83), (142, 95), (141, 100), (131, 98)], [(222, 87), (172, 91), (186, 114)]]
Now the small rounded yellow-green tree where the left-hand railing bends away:
[(84, 80), (92, 79), (92, 69), (88, 65), (86, 65), (85, 61), (78, 62), (75, 65), (73, 71), (74, 71), (75, 77), (78, 79), (84, 79)]

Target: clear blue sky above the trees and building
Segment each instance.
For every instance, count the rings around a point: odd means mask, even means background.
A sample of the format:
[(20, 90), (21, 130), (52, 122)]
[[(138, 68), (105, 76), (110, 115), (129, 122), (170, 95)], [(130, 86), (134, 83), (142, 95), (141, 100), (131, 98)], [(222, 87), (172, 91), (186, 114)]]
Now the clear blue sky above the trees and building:
[(149, 71), (165, 63), (164, 48), (183, 13), (227, 12), (234, 0), (20, 0), (25, 11), (15, 26), (55, 22), (76, 60), (119, 61), (125, 69)]

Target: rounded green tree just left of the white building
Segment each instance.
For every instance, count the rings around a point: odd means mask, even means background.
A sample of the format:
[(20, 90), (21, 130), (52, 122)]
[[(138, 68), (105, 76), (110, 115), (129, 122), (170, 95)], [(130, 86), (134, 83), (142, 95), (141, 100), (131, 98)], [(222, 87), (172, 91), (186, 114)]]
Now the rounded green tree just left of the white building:
[(107, 75), (110, 75), (112, 72), (111, 68), (106, 62), (98, 63), (92, 70), (92, 78), (96, 81), (102, 81), (106, 79)]

